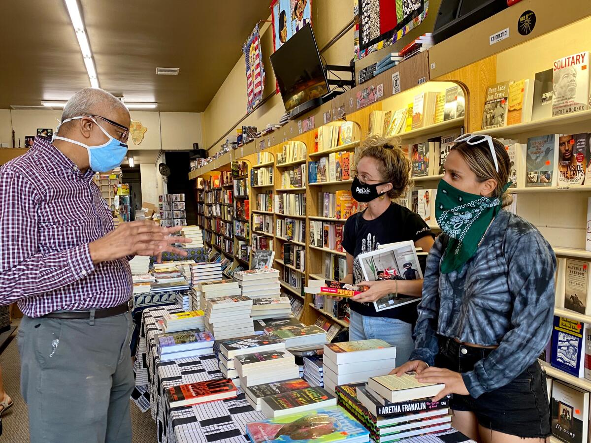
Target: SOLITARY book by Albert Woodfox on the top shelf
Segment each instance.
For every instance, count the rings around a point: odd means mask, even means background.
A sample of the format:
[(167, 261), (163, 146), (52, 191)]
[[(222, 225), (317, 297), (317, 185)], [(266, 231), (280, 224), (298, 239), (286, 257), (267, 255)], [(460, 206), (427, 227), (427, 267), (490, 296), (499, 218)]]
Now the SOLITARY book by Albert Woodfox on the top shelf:
[(589, 109), (589, 52), (554, 61), (552, 116)]

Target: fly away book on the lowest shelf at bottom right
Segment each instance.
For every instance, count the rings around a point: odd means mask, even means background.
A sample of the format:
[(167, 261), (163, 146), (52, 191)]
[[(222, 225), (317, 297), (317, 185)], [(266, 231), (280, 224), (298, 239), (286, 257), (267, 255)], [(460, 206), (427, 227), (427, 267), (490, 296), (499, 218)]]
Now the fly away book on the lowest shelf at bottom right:
[(589, 392), (553, 380), (551, 432), (560, 441), (586, 443), (589, 436)]

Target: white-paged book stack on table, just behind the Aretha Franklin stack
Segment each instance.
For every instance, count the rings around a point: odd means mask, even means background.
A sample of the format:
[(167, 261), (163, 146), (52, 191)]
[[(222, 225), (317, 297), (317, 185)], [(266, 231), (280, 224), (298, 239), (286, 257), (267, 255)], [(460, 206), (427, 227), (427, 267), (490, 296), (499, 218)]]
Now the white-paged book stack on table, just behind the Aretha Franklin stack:
[(365, 382), (396, 367), (396, 348), (384, 340), (343, 341), (324, 346), (323, 380), (329, 392), (337, 385)]

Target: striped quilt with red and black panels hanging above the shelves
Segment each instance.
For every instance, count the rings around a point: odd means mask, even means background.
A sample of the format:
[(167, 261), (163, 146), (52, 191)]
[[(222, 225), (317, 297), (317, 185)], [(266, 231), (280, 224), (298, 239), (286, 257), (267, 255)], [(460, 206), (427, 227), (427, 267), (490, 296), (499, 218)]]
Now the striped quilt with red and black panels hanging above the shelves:
[(394, 44), (427, 17), (428, 0), (353, 0), (355, 58)]

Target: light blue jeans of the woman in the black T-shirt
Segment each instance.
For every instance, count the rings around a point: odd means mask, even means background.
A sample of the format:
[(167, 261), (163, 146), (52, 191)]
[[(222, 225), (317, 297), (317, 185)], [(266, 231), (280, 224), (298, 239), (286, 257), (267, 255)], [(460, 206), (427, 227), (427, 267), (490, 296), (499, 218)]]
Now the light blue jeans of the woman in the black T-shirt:
[(396, 318), (368, 317), (351, 311), (349, 340), (381, 338), (396, 347), (396, 366), (408, 361), (414, 350), (413, 325)]

